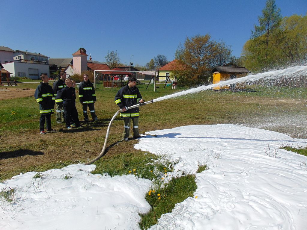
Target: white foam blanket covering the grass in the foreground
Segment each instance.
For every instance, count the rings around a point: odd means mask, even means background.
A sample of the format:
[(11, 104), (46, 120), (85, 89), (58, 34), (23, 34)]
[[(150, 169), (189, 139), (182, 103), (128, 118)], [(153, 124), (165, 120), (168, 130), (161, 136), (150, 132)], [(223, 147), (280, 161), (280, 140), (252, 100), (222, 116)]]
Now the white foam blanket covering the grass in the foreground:
[[(182, 171), (196, 173), (198, 165), (209, 167), (196, 174), (195, 196), (150, 229), (306, 229), (305, 157), (279, 147), (305, 147), (307, 139), (230, 124), (149, 134), (157, 136), (141, 138), (135, 148), (178, 162), (165, 181)], [(73, 165), (42, 172), (42, 178), (29, 172), (1, 183), (0, 191), (16, 191), (15, 202), (0, 197), (0, 229), (140, 229), (138, 213), (150, 210), (145, 196), (151, 181), (94, 175), (94, 169)]]

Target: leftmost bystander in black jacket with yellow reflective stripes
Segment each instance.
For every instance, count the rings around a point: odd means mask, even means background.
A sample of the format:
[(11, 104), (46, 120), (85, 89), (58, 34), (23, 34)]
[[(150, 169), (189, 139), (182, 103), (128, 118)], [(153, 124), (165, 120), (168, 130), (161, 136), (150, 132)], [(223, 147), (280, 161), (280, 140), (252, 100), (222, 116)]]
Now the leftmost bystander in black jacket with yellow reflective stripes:
[(40, 134), (46, 134), (44, 131), (45, 120), (47, 132), (56, 132), (51, 128), (51, 114), (54, 112), (55, 97), (52, 91), (52, 87), (48, 84), (48, 76), (46, 74), (41, 74), (41, 82), (34, 93), (36, 101), (39, 103), (39, 112), (41, 117), (39, 119)]

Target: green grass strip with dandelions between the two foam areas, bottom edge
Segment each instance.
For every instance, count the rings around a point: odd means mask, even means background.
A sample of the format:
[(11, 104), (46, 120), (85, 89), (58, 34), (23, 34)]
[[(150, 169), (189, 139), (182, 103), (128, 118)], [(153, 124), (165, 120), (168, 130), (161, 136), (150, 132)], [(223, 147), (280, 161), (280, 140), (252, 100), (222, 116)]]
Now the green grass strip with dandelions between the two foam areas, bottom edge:
[(196, 188), (195, 175), (174, 178), (164, 187), (151, 188), (146, 195), (146, 200), (152, 209), (149, 213), (141, 215), (142, 219), (139, 223), (141, 229), (157, 224), (162, 214), (171, 212), (177, 203), (193, 197)]

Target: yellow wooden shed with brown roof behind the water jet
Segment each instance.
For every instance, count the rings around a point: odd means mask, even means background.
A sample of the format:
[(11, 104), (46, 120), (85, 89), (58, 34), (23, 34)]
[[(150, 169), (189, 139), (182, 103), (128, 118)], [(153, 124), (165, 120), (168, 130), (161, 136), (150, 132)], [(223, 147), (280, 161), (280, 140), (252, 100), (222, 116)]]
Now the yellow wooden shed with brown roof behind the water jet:
[[(240, 78), (246, 76), (248, 73), (250, 73), (247, 68), (245, 67), (239, 67), (239, 66), (233, 66), (231, 63), (228, 63), (225, 66), (216, 66), (211, 71), (213, 73), (213, 84), (218, 83), (220, 81), (226, 81), (229, 79), (234, 78)], [(232, 89), (232, 88), (242, 88), (243, 86), (216, 86), (213, 88), (213, 90), (222, 90), (222, 89)]]

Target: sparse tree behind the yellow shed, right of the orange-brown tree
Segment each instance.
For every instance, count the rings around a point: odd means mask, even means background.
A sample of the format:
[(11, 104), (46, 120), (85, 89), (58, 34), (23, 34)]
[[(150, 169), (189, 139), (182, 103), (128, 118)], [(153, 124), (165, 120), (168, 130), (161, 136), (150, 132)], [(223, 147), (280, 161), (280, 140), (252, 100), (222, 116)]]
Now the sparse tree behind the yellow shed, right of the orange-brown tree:
[(214, 68), (215, 66), (223, 66), (227, 63), (235, 60), (234, 56), (231, 56), (231, 46), (227, 46), (224, 41), (220, 41), (216, 43), (216, 50), (214, 55), (212, 56), (210, 66)]

